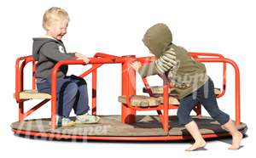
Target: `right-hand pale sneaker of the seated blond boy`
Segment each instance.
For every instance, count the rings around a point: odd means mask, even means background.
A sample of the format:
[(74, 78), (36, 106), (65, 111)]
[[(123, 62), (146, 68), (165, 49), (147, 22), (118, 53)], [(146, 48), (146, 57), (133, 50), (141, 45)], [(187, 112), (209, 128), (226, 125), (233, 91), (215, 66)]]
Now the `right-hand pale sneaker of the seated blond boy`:
[(99, 116), (91, 116), (88, 113), (77, 116), (75, 123), (77, 124), (92, 124), (98, 123), (101, 120)]

